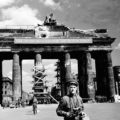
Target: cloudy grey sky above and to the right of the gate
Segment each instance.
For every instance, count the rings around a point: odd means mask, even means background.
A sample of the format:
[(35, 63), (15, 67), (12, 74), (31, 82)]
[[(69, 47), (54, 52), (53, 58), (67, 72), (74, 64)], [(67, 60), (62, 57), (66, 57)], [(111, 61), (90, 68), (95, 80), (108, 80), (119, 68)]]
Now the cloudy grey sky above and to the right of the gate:
[(117, 38), (113, 65), (120, 65), (120, 0), (0, 0), (0, 26), (42, 24), (50, 13), (70, 28), (107, 28)]

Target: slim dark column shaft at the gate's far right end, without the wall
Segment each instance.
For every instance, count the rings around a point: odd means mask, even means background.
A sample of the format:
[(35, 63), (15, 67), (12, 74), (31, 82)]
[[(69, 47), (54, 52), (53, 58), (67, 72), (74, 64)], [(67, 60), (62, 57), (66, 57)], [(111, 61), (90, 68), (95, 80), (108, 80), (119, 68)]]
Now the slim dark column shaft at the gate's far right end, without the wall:
[(111, 99), (115, 95), (115, 81), (112, 67), (111, 51), (106, 51), (105, 53), (105, 68), (106, 68), (106, 78), (108, 85), (108, 99)]

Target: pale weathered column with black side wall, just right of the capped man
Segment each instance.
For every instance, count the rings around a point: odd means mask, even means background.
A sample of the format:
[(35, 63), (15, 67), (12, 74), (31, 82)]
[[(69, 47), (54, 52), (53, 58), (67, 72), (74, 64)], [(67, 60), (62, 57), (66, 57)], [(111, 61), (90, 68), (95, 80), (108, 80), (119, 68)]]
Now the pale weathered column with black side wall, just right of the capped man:
[(91, 53), (81, 53), (78, 58), (79, 90), (82, 98), (94, 99), (95, 87), (92, 76)]

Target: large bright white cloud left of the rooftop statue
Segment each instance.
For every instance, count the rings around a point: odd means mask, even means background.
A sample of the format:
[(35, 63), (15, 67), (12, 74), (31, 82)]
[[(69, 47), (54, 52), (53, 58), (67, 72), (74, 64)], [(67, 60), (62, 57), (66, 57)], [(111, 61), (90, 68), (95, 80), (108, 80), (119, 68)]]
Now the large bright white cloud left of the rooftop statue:
[(1, 10), (0, 26), (5, 25), (36, 25), (42, 21), (36, 16), (38, 11), (30, 8), (28, 5), (22, 7), (11, 7)]

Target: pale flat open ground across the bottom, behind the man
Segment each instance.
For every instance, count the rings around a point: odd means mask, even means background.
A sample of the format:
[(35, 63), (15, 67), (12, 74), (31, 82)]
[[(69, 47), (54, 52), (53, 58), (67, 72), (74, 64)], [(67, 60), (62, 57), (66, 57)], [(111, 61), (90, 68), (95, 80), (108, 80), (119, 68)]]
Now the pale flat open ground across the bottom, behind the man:
[[(120, 103), (87, 103), (85, 112), (90, 120), (120, 120)], [(38, 105), (38, 114), (32, 107), (0, 108), (0, 120), (63, 120), (56, 115), (57, 104)]]

